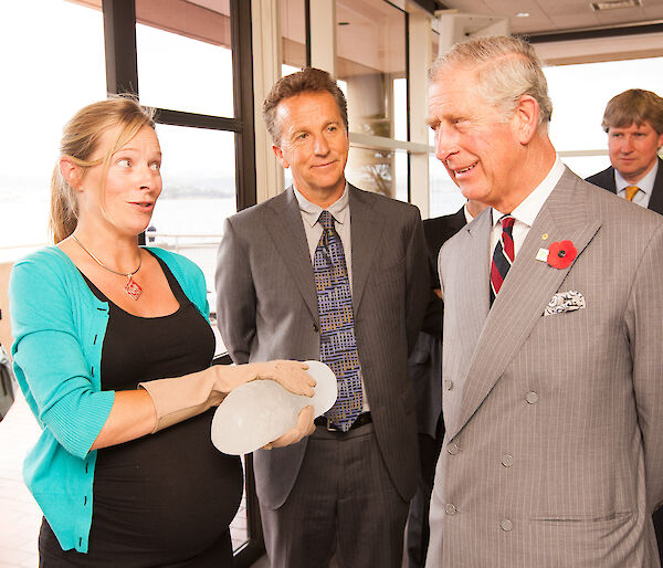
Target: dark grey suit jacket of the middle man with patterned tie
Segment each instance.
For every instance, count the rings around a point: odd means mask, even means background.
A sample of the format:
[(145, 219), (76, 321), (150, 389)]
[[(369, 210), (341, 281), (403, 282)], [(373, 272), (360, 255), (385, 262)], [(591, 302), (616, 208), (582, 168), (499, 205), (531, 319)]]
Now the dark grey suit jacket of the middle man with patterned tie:
[[(364, 383), (385, 464), (397, 491), (409, 501), (419, 461), (408, 353), (429, 292), (421, 218), (409, 203), (352, 186), (349, 208), (352, 305)], [(233, 361), (319, 359), (315, 278), (292, 188), (225, 221), (215, 281), (219, 329)], [(304, 439), (254, 453), (263, 506), (276, 508), (285, 502), (306, 443)]]

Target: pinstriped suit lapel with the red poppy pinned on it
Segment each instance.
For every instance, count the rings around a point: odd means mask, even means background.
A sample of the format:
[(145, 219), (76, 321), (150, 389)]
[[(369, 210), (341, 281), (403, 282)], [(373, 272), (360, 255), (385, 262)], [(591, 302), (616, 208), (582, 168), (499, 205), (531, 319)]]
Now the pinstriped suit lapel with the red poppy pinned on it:
[[(470, 362), (459, 419), (455, 427), (452, 425), (451, 438), (488, 396), (572, 269), (571, 264), (558, 270), (536, 260), (538, 250), (548, 249), (556, 241), (569, 240), (579, 257), (599, 227), (598, 220), (588, 219), (587, 190), (581, 180), (566, 170), (537, 215), (488, 313)], [(547, 238), (544, 240), (543, 235)], [(487, 266), (484, 270), (487, 272)], [(470, 293), (487, 296), (487, 285)]]

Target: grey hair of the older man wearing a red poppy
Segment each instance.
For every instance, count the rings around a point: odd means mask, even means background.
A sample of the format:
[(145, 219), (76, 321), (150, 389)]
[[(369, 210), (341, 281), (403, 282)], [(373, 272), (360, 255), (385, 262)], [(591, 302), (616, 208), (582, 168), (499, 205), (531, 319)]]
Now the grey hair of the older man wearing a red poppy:
[(513, 115), (523, 95), (532, 96), (539, 106), (538, 128), (547, 128), (552, 115), (548, 83), (538, 55), (525, 40), (493, 35), (456, 43), (433, 62), (429, 81), (453, 66), (474, 71), (476, 93), (505, 118)]

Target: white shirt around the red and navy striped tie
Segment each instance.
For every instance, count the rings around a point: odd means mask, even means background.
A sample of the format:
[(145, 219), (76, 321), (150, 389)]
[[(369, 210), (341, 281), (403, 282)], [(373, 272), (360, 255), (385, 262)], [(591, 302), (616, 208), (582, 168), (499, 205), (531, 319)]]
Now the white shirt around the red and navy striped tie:
[[(502, 238), (502, 217), (507, 213), (516, 220), (514, 223), (514, 257), (518, 255), (518, 251), (523, 243), (525, 242), (525, 238), (529, 232), (529, 229), (534, 224), (534, 220), (536, 215), (538, 215), (541, 207), (548, 199), (548, 196), (557, 186), (559, 178), (564, 173), (564, 164), (559, 158), (555, 160), (552, 168), (548, 175), (544, 178), (544, 180), (535, 188), (535, 190), (529, 193), (522, 202), (514, 209), (513, 211), (497, 211), (496, 209), (492, 210), (493, 214), (493, 230), (491, 231), (491, 263), (493, 262), (493, 251), (497, 245), (497, 241)], [(488, 266), (490, 270), (490, 266)]]

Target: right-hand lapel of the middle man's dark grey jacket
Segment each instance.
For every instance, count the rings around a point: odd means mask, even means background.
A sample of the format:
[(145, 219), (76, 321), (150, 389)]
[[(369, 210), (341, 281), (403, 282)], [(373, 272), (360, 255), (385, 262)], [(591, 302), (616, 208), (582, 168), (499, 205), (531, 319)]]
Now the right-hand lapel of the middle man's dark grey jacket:
[[(364, 290), (371, 272), (376, 250), (382, 240), (385, 220), (373, 212), (375, 196), (348, 183), (350, 240), (352, 243), (352, 304), (359, 312)], [(347, 257), (346, 252), (346, 257)]]

